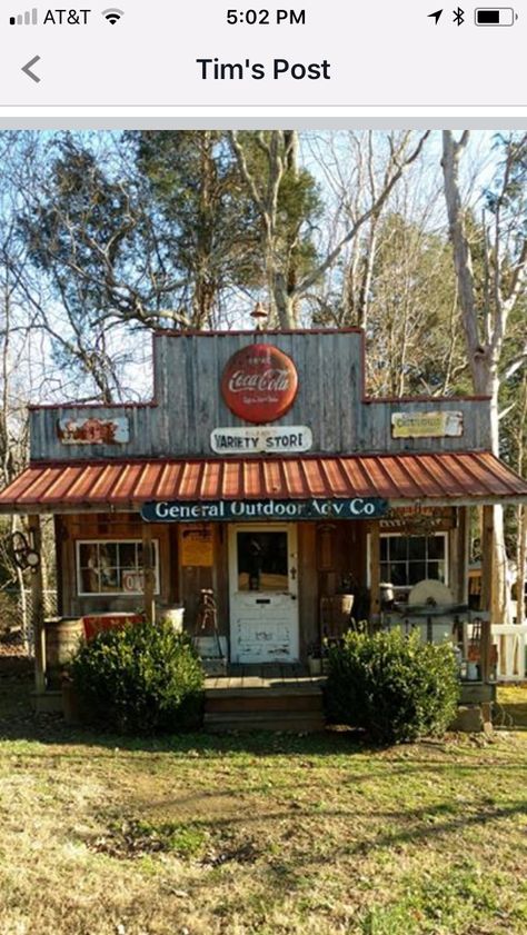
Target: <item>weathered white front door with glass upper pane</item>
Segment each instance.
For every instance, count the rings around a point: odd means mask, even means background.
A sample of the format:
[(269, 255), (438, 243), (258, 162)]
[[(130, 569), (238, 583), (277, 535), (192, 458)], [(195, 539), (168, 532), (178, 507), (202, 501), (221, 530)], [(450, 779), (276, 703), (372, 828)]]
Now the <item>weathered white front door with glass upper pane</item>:
[(232, 663), (297, 663), (296, 524), (229, 527)]

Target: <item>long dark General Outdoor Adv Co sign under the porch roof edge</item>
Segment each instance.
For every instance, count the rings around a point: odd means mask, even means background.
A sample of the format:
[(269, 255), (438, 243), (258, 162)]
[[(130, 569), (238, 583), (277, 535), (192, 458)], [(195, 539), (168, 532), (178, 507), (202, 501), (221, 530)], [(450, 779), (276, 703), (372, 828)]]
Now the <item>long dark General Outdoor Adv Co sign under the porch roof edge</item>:
[(372, 519), (385, 516), (388, 500), (349, 497), (335, 500), (162, 500), (142, 505), (147, 523), (202, 523), (240, 519)]

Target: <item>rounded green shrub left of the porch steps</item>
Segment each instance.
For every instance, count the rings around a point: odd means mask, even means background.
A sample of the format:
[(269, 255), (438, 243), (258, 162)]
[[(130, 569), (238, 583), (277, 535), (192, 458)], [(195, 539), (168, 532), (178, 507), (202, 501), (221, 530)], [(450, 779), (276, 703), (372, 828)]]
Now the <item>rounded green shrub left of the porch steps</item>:
[(201, 723), (203, 670), (169, 623), (129, 624), (81, 645), (69, 673), (83, 717), (137, 734)]

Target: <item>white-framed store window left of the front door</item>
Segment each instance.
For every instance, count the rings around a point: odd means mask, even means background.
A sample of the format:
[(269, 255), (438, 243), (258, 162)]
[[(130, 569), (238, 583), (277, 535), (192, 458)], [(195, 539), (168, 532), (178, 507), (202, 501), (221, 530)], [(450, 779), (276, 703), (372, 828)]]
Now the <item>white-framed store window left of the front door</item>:
[[(156, 594), (159, 594), (158, 554), (158, 543), (153, 541)], [(78, 541), (77, 581), (79, 595), (142, 594), (141, 539)]]

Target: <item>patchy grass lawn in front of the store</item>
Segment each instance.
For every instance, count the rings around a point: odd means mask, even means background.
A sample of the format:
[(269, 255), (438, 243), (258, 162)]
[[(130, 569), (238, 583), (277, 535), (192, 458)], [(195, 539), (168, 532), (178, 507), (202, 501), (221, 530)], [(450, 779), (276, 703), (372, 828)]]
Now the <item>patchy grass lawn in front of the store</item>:
[(135, 740), (29, 687), (0, 680), (1, 935), (527, 933), (527, 732)]

